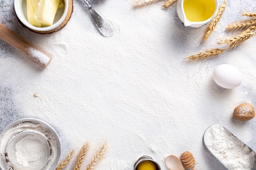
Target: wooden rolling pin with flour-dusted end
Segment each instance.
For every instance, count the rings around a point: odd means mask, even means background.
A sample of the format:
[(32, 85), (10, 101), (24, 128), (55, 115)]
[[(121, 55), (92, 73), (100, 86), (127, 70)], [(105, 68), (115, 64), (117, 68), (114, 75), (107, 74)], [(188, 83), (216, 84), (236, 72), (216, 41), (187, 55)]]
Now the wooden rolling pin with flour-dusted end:
[(47, 67), (52, 60), (52, 57), (45, 51), (39, 49), (38, 46), (31, 44), (25, 38), (18, 35), (16, 32), (12, 31), (1, 23), (0, 38), (14, 46), (16, 49), (20, 50), (34, 62), (40, 64), (43, 67)]

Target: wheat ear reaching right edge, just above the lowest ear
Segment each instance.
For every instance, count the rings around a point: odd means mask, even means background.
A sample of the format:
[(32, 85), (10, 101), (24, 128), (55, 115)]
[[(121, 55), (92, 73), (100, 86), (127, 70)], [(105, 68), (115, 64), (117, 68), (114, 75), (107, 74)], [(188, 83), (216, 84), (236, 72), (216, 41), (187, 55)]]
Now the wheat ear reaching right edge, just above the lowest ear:
[(223, 40), (220, 40), (217, 42), (217, 44), (227, 44), (228, 48), (233, 48), (244, 42), (245, 40), (248, 40), (252, 36), (256, 34), (256, 32), (253, 32), (255, 29), (255, 26), (251, 26), (245, 31), (241, 32), (240, 34), (231, 37), (231, 38), (225, 38)]

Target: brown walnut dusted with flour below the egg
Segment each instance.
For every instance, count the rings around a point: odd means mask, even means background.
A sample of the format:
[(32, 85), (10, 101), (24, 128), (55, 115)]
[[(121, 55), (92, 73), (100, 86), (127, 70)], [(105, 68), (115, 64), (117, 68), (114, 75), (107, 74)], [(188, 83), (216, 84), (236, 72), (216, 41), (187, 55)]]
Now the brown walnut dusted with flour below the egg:
[(255, 117), (254, 106), (249, 103), (242, 103), (234, 109), (233, 115), (241, 121), (250, 120)]

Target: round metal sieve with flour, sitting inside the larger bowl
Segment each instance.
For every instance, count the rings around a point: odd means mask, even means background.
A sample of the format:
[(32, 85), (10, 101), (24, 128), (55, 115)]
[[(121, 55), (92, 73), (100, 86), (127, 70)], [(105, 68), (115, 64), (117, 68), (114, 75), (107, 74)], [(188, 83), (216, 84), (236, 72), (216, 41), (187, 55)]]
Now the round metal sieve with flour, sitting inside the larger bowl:
[[(23, 155), (19, 155), (19, 151)], [(5, 148), (5, 160), (10, 167), (9, 170), (43, 170), (51, 158), (52, 146), (47, 139), (47, 134), (36, 130), (18, 132), (11, 137)]]

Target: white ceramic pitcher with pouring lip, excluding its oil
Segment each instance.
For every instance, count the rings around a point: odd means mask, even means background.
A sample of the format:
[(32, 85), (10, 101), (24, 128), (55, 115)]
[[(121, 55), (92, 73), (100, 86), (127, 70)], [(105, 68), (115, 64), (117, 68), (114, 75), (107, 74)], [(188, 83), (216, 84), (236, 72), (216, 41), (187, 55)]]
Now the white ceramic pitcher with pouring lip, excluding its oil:
[[(204, 0), (204, 1), (208, 1), (208, 0)], [(210, 22), (214, 16), (216, 15), (217, 11), (218, 11), (218, 0), (214, 0), (215, 2), (215, 10), (213, 12), (213, 14), (211, 15), (211, 17), (209, 17), (207, 20), (204, 20), (204, 21), (198, 21), (198, 22), (195, 22), (195, 21), (189, 21), (186, 17), (186, 14), (184, 12), (184, 0), (178, 0), (177, 2), (177, 14), (180, 18), (180, 20), (184, 23), (184, 26), (191, 26), (191, 27), (194, 27), (194, 28), (197, 28), (197, 27), (200, 27), (200, 26), (203, 26), (205, 24), (207, 24), (208, 22)]]

